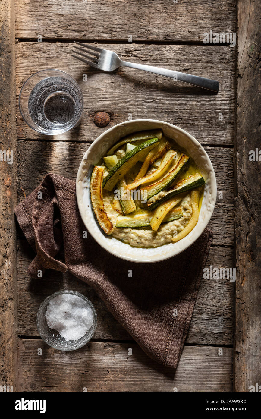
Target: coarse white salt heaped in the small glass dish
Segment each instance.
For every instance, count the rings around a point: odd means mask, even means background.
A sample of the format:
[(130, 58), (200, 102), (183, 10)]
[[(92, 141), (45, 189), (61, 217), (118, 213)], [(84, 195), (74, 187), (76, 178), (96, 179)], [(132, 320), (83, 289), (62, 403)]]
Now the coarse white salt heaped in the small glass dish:
[(60, 294), (52, 298), (45, 313), (50, 329), (55, 329), (66, 340), (78, 340), (93, 325), (90, 306), (77, 295)]

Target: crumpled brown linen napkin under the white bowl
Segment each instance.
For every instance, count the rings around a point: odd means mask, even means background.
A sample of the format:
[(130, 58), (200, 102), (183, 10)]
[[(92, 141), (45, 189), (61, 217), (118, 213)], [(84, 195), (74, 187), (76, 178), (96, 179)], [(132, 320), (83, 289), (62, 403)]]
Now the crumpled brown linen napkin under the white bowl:
[[(166, 261), (121, 260), (103, 250), (90, 234), (83, 238), (75, 182), (54, 174), (45, 176), (15, 213), (37, 253), (28, 268), (31, 277), (39, 279), (39, 269), (68, 269), (93, 287), (147, 355), (176, 368), (209, 253), (211, 230), (206, 228), (186, 251)], [(65, 263), (55, 258), (62, 246)]]

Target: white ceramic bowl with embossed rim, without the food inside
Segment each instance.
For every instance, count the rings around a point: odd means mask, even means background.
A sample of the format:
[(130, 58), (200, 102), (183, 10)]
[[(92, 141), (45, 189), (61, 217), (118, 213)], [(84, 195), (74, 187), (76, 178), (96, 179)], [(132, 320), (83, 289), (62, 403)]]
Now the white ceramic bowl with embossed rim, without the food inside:
[[(90, 176), (93, 166), (106, 155), (107, 150), (121, 137), (132, 132), (156, 128), (161, 128), (167, 137), (172, 138), (178, 145), (186, 149), (194, 159), (196, 165), (200, 168), (206, 185), (202, 207), (199, 212), (199, 220), (196, 227), (186, 237), (177, 243), (168, 243), (156, 248), (137, 248), (123, 243), (112, 236), (107, 236), (102, 232), (93, 213), (90, 201)], [(192, 135), (175, 125), (168, 124), (168, 122), (157, 121), (155, 119), (134, 119), (132, 121), (121, 122), (121, 124), (107, 129), (86, 151), (76, 178), (76, 196), (80, 215), (86, 228), (105, 250), (121, 259), (149, 263), (171, 258), (191, 246), (199, 238), (207, 227), (214, 211), (217, 196), (217, 182), (209, 156), (202, 145)]]

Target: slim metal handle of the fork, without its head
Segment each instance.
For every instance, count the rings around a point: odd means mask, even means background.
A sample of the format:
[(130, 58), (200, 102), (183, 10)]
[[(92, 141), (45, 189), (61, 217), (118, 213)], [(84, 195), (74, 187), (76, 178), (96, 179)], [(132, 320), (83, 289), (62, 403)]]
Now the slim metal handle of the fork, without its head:
[(136, 64), (135, 62), (127, 62), (121, 60), (120, 65), (159, 74), (161, 76), (172, 78), (172, 80), (180, 80), (185, 83), (193, 84), (194, 86), (202, 87), (203, 89), (211, 90), (213, 92), (218, 92), (219, 89), (219, 81), (217, 80), (211, 80), (204, 77), (194, 76), (192, 74), (181, 73), (179, 71), (167, 70), (165, 68), (153, 67), (152, 65)]

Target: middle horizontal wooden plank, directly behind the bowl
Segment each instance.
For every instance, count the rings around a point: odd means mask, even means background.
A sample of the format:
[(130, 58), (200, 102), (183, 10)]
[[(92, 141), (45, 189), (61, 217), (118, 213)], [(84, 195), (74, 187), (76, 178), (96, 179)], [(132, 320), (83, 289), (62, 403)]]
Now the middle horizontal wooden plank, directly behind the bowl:
[[(23, 188), (26, 195), (30, 194), (41, 183), (47, 173), (53, 172), (70, 179), (76, 179), (78, 167), (89, 145), (90, 143), (65, 141), (18, 141), (19, 199), (24, 198), (21, 188)], [(212, 244), (233, 246), (233, 149), (205, 147), (205, 150), (214, 166), (217, 189), (222, 192), (222, 199), (217, 197), (214, 214), (209, 222), (209, 228), (214, 231)]]

